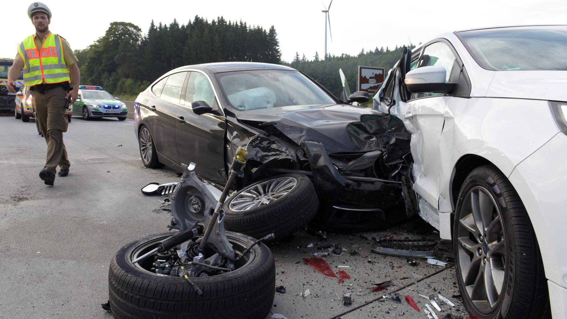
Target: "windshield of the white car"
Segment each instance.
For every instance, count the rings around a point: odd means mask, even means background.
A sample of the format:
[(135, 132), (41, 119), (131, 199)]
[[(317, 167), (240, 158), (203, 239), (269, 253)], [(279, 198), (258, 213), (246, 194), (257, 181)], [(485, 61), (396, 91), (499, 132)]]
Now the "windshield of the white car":
[(458, 36), (487, 70), (567, 70), (567, 26), (483, 29)]

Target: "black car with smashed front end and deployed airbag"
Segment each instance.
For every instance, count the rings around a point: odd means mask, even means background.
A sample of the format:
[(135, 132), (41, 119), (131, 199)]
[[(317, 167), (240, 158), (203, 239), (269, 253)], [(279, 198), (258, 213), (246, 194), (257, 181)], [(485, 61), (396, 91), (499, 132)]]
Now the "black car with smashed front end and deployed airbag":
[[(338, 99), (307, 75), (247, 62), (179, 67), (136, 99), (143, 164), (196, 164), (224, 185), (238, 147), (247, 164), (224, 203), (226, 228), (259, 238), (287, 236), (308, 222), (327, 231), (364, 231), (416, 211), (409, 133), (396, 117)], [(198, 194), (187, 197), (199, 209)], [(285, 199), (285, 200), (284, 200)]]

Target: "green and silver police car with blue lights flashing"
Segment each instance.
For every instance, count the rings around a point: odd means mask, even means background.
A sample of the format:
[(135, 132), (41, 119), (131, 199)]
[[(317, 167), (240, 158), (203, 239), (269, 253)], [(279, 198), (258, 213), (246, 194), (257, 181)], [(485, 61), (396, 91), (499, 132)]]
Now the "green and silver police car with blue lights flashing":
[(73, 114), (81, 115), (87, 121), (94, 117), (117, 117), (124, 121), (128, 108), (101, 86), (79, 86), (79, 97), (73, 103)]

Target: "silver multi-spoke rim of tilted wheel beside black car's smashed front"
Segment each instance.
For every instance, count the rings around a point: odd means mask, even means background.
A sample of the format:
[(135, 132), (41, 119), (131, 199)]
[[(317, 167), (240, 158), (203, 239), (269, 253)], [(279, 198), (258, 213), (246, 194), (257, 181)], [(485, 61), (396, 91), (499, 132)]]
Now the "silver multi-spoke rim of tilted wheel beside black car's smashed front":
[(233, 211), (247, 211), (265, 206), (284, 197), (295, 186), (297, 186), (297, 179), (291, 176), (261, 182), (236, 195), (230, 202), (229, 208)]

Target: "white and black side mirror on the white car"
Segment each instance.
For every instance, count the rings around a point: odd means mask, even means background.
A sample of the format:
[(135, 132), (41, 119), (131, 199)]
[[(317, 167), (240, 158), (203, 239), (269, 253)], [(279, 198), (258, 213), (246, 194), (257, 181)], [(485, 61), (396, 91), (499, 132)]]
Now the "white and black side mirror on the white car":
[(424, 66), (405, 75), (405, 86), (412, 93), (450, 93), (456, 83), (445, 83), (447, 71), (442, 66)]

